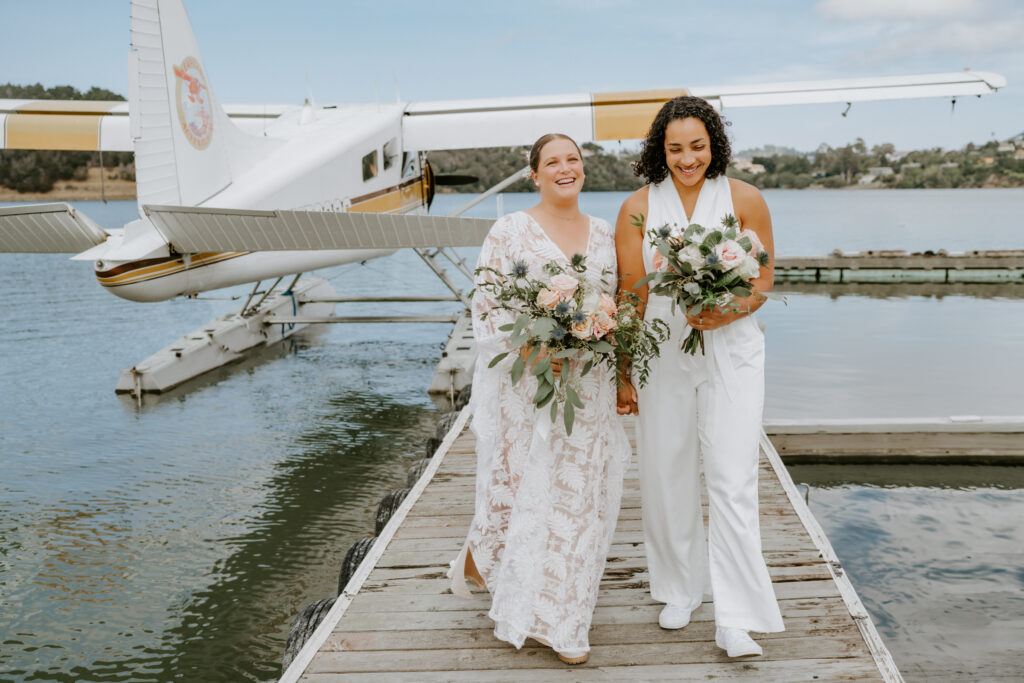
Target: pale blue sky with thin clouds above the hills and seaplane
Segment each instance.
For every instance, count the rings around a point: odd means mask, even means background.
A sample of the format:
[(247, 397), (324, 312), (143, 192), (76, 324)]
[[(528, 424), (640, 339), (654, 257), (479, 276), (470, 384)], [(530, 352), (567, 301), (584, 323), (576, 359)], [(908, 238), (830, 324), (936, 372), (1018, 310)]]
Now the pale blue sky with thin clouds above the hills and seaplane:
[[(956, 72), (981, 98), (726, 110), (734, 150), (1024, 132), (1018, 0), (185, 0), (226, 103), (461, 99)], [(127, 0), (0, 0), (0, 83), (127, 94)]]

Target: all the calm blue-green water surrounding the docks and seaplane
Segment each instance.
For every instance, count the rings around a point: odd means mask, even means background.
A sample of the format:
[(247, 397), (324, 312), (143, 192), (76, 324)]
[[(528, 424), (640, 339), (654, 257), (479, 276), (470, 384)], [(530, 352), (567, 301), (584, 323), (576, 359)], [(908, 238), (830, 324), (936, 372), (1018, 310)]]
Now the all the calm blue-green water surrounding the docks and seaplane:
[[(623, 197), (584, 208), (613, 220)], [(1024, 190), (766, 197), (781, 254), (1022, 246)], [(532, 202), (503, 197), (506, 212)], [(108, 226), (135, 210), (77, 206)], [(351, 295), (445, 293), (409, 253), (321, 274)], [(114, 394), (120, 369), (238, 304), (123, 301), (63, 256), (0, 255), (0, 680), (275, 679), (292, 618), (334, 595), (348, 546), (433, 431), (426, 386), (447, 326), (331, 326), (139, 411)], [(1018, 292), (770, 302), (766, 417), (1024, 415)], [(908, 679), (1024, 668), (997, 646), (1024, 620), (1019, 477), (804, 469)]]

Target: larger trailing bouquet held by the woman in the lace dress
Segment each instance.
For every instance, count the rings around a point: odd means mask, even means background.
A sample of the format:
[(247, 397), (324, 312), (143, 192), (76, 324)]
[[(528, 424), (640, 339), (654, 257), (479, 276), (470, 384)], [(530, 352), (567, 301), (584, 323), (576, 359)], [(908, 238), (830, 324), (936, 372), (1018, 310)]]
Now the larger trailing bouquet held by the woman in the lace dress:
[[(635, 294), (630, 293), (616, 303), (613, 297), (594, 289), (585, 278), (586, 260), (575, 254), (568, 268), (556, 261), (547, 263), (543, 267), (545, 280), (529, 278), (525, 263), (513, 264), (510, 273), (487, 266), (476, 269), (478, 275), (484, 271), (492, 274), (493, 282), (478, 287), (498, 302), (483, 317), (498, 310), (512, 311), (516, 316), (513, 323), (499, 328), (511, 332), (512, 350), (496, 355), (488, 367), (494, 368), (509, 353), (515, 353), (513, 384), (526, 368), (532, 368), (538, 380), (534, 405), (541, 409), (550, 404), (552, 422), (562, 405), (567, 434), (572, 433), (575, 411), (583, 408), (579, 378), (599, 362), (612, 368), (630, 362), (642, 385), (647, 379), (648, 359), (657, 355), (657, 344), (668, 338), (664, 322), (645, 323), (637, 315)], [(611, 270), (601, 272), (601, 280), (607, 286), (613, 276)], [(542, 349), (547, 354), (538, 360)], [(551, 368), (552, 358), (568, 360), (562, 364), (557, 378)], [(579, 376), (573, 374), (578, 369)]]

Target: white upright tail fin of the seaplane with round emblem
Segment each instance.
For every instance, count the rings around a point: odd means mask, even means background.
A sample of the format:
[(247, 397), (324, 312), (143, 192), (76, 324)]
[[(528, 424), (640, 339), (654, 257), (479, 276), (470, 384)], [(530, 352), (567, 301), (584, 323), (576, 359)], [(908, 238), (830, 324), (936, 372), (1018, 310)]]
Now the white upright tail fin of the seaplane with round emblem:
[(207, 202), (276, 145), (224, 114), (181, 0), (132, 0), (128, 73), (140, 216)]

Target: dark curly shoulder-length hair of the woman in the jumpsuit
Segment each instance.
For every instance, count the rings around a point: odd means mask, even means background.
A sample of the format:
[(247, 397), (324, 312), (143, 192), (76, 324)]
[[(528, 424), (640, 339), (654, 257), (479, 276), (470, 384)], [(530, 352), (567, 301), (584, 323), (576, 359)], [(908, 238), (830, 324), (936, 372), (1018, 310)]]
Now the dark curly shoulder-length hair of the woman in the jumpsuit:
[(649, 183), (665, 180), (669, 175), (669, 166), (665, 162), (665, 129), (676, 119), (690, 117), (703, 123), (711, 138), (711, 164), (708, 165), (705, 177), (716, 178), (725, 173), (732, 158), (732, 147), (729, 146), (725, 127), (731, 124), (707, 99), (691, 95), (674, 97), (662, 106), (643, 140), (640, 159), (633, 166), (633, 173)]

